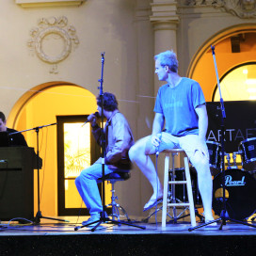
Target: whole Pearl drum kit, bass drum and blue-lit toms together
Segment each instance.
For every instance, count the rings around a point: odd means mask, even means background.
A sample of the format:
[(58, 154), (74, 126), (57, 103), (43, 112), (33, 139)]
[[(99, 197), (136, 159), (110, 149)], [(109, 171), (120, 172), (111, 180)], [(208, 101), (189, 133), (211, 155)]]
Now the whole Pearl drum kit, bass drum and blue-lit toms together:
[[(207, 141), (206, 144), (214, 177), (213, 209), (219, 216), (223, 205), (221, 145), (213, 141)], [(256, 211), (256, 137), (242, 141), (238, 152), (232, 152), (232, 157), (231, 153), (224, 154), (227, 160), (224, 179), (227, 212), (232, 219), (244, 220)], [(237, 166), (238, 155), (241, 156), (241, 168)]]

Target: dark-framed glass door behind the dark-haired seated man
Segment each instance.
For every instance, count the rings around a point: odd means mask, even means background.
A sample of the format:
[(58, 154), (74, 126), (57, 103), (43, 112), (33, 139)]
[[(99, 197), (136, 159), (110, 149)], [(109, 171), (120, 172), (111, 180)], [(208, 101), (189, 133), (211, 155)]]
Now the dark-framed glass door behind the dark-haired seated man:
[[(90, 124), (83, 125), (88, 116), (57, 116), (58, 155), (58, 215), (88, 215), (86, 205), (76, 189), (74, 180), (84, 168), (88, 168), (101, 154), (100, 146), (91, 134)], [(99, 184), (100, 194), (103, 194)], [(105, 182), (105, 204), (111, 201), (111, 185)], [(82, 206), (82, 208), (81, 208)], [(111, 208), (106, 212), (109, 214)]]

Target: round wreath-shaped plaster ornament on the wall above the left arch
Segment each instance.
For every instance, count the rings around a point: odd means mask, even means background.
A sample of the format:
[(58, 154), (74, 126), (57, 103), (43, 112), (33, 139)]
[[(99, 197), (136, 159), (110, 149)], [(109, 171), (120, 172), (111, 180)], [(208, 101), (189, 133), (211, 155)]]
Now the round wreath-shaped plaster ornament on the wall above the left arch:
[[(57, 73), (57, 63), (67, 58), (72, 52), (72, 46), (75, 47), (79, 43), (75, 28), (72, 25), (68, 25), (68, 19), (65, 16), (48, 19), (41, 18), (38, 25), (38, 27), (30, 30), (31, 38), (28, 40), (27, 45), (42, 61), (53, 65), (50, 72)], [(60, 43), (62, 52), (56, 55), (45, 53), (43, 48), (44, 40), (48, 40), (50, 44), (51, 40), (62, 40), (63, 44)]]

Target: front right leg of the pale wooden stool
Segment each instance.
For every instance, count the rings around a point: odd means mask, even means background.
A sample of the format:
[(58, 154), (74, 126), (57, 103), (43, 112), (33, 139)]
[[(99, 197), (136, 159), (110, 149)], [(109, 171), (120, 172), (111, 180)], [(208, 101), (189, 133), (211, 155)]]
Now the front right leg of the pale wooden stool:
[(192, 225), (192, 227), (195, 227), (196, 226), (195, 206), (194, 206), (194, 200), (193, 200), (191, 178), (190, 178), (190, 173), (189, 173), (187, 157), (184, 157), (184, 171), (185, 171), (185, 179), (187, 182), (186, 188), (187, 188), (187, 198), (188, 198), (188, 202), (189, 202), (191, 225)]

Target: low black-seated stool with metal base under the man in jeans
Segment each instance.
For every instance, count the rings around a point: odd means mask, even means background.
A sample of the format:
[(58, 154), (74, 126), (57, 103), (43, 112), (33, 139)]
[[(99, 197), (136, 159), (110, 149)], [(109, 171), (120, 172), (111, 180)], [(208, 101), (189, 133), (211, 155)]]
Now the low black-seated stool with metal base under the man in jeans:
[[(126, 211), (123, 207), (120, 206), (119, 203), (117, 203), (116, 200), (118, 200), (118, 196), (115, 195), (115, 184), (120, 181), (126, 181), (131, 177), (130, 172), (112, 172), (104, 176), (104, 180), (107, 181), (107, 183), (111, 184), (111, 202), (106, 205), (106, 207), (112, 206), (112, 213), (111, 216), (115, 220), (115, 217), (118, 218), (120, 221), (120, 211), (122, 212), (122, 216), (125, 216), (127, 218), (127, 221), (131, 221), (129, 216), (127, 215)], [(98, 181), (102, 181), (103, 179), (100, 178)]]

